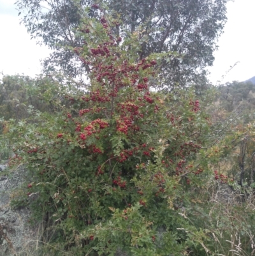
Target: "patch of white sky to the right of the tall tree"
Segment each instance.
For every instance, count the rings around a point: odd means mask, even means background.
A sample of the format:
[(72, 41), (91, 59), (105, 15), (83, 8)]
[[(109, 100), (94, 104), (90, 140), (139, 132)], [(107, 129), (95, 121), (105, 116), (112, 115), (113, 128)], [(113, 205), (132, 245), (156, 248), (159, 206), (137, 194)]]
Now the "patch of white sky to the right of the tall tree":
[(244, 81), (255, 76), (255, 0), (228, 3), (228, 22), (214, 53), (214, 66), (208, 68), (212, 82), (221, 80), (230, 66), (235, 66), (222, 82)]

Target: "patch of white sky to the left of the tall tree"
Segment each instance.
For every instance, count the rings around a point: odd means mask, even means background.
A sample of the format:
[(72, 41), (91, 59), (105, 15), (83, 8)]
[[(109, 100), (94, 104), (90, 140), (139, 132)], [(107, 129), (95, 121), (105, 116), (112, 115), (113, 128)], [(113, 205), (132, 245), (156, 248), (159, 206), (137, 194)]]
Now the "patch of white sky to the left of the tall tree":
[(30, 40), (25, 26), (20, 25), (16, 0), (0, 0), (0, 72), (34, 77), (41, 71), (40, 59), (50, 53), (47, 47)]

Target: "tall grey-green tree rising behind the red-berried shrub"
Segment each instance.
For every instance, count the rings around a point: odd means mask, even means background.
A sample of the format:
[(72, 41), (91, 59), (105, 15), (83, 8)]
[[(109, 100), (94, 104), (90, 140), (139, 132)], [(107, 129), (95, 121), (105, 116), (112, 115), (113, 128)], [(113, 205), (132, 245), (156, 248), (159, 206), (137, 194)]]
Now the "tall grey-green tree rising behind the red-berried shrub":
[[(90, 8), (89, 17), (98, 17), (101, 6), (108, 6), (120, 16), (122, 24), (115, 30), (120, 36), (124, 30), (134, 33), (142, 27), (138, 59), (152, 52), (177, 52), (168, 56), (161, 66), (162, 87), (187, 86), (198, 83), (205, 86), (205, 67), (214, 61), (215, 41), (226, 22), (226, 3), (229, 0), (18, 0), (17, 7), (24, 12), (22, 23), (32, 38), (38, 38), (54, 50), (43, 62), (45, 71), (59, 67), (68, 75), (89, 72), (89, 66), (78, 64), (78, 58), (68, 48), (80, 47), (73, 29), (78, 27), (82, 10)], [(92, 29), (92, 28), (90, 28)]]

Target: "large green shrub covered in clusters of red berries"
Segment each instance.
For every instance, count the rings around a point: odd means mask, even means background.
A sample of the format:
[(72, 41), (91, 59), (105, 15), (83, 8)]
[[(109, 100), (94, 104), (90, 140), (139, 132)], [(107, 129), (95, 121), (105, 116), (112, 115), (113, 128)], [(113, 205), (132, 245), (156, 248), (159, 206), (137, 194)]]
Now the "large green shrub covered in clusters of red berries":
[(210, 236), (193, 223), (189, 191), (212, 183), (221, 152), (207, 149), (208, 102), (192, 90), (153, 91), (173, 54), (138, 59), (142, 32), (121, 38), (118, 20), (99, 13), (75, 31), (89, 86), (59, 86), (54, 114), (31, 110), (33, 122), (10, 121), (10, 165), (31, 174), (15, 205), (49, 223), (50, 255), (206, 255)]

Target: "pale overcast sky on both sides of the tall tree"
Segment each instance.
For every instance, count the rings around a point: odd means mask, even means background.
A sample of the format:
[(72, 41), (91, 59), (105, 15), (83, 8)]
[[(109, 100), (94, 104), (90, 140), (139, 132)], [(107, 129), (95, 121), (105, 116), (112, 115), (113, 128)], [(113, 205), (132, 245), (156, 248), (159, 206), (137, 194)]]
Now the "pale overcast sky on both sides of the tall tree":
[[(15, 1), (0, 0), (0, 72), (34, 77), (40, 73), (40, 59), (50, 51), (30, 40), (27, 29), (19, 24)], [(235, 0), (227, 7), (228, 22), (218, 41), (219, 50), (214, 53), (214, 66), (208, 68), (214, 83), (243, 81), (255, 76), (255, 0)]]

